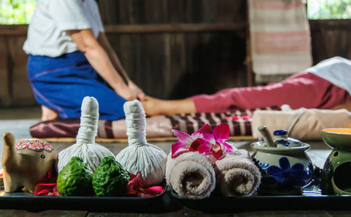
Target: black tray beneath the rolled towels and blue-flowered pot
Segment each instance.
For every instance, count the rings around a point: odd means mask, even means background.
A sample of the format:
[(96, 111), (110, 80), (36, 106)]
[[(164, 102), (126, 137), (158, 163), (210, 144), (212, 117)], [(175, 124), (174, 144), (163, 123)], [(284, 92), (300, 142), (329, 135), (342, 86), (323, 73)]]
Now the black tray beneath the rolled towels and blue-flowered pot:
[(284, 195), (223, 197), (218, 193), (205, 199), (183, 199), (171, 190), (175, 197), (187, 208), (206, 213), (236, 213), (242, 211), (279, 210), (351, 210), (351, 195)]

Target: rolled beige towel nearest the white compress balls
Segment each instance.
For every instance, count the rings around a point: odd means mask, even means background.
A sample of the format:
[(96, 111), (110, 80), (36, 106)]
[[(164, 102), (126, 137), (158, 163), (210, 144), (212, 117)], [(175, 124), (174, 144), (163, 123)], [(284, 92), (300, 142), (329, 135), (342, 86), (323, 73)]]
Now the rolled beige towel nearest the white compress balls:
[(216, 187), (216, 176), (211, 162), (199, 152), (185, 152), (176, 158), (168, 154), (166, 181), (187, 199), (202, 199), (211, 195)]

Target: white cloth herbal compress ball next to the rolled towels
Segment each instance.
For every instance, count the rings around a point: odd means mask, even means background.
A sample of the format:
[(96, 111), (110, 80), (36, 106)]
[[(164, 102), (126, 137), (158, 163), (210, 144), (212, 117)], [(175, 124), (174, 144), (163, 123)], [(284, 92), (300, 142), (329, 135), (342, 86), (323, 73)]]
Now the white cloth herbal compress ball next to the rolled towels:
[(140, 173), (143, 187), (159, 185), (166, 172), (166, 153), (145, 138), (146, 119), (143, 105), (139, 100), (124, 103), (128, 147), (117, 154), (116, 160), (127, 171)]

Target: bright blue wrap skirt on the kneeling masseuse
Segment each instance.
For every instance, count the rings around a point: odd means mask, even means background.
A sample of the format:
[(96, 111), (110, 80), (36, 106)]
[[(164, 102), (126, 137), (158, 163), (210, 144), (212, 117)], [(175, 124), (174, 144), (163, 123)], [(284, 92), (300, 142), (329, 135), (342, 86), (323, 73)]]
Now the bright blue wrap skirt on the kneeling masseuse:
[(124, 118), (126, 100), (107, 85), (84, 53), (77, 51), (57, 58), (29, 55), (27, 70), (37, 102), (58, 112), (61, 119), (80, 117), (85, 96), (98, 100), (100, 119)]

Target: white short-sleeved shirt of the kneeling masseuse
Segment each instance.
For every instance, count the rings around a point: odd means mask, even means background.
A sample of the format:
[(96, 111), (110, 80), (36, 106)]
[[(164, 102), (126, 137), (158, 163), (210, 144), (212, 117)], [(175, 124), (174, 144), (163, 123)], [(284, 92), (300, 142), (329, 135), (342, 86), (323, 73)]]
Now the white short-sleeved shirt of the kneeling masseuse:
[(49, 57), (78, 51), (69, 29), (92, 29), (95, 38), (104, 32), (95, 0), (38, 0), (23, 50)]

